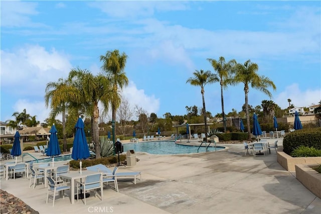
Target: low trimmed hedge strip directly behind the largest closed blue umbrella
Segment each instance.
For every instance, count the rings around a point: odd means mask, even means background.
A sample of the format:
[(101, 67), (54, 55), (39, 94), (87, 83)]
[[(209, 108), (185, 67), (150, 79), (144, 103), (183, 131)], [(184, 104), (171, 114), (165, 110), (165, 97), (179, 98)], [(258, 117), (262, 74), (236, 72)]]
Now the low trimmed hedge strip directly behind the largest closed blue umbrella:
[[(119, 161), (124, 161), (126, 159), (126, 155), (119, 155)], [(79, 169), (79, 160), (71, 160), (69, 162), (70, 167)], [(82, 167), (87, 167), (87, 166), (93, 166), (97, 164), (103, 164), (103, 165), (108, 165), (108, 164), (114, 164), (118, 163), (118, 156), (110, 156), (110, 157), (104, 157), (104, 158), (99, 158), (99, 159), (86, 159), (82, 160)]]

